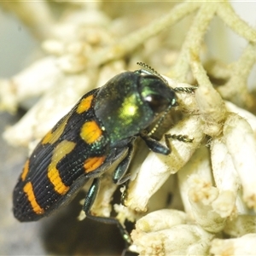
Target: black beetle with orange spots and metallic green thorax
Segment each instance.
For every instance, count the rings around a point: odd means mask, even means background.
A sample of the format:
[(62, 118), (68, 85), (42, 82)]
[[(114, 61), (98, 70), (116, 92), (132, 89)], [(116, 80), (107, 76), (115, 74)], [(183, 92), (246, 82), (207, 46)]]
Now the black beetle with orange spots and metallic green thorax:
[(123, 228), (116, 218), (90, 214), (100, 177), (123, 157), (113, 172), (113, 182), (129, 179), (126, 172), (137, 137), (154, 152), (170, 154), (170, 147), (155, 140), (154, 129), (148, 129), (160, 125), (166, 113), (177, 106), (176, 91), (166, 80), (146, 64), (138, 64), (143, 68), (120, 73), (82, 96), (38, 143), (14, 189), (15, 218), (24, 222), (49, 216), (93, 178), (84, 201), (86, 216)]

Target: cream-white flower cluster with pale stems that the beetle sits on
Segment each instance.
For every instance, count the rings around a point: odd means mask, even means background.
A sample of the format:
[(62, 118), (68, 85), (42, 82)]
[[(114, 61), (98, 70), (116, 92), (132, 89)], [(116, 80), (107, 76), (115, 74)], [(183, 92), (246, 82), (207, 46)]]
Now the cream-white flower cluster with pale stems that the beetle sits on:
[[(24, 22), (32, 26), (44, 20), (52, 27), (39, 31), (45, 55), (13, 78), (0, 80), (0, 108), (14, 113), (20, 102), (41, 98), (3, 137), (32, 148), (86, 91), (123, 70), (137, 69), (137, 61), (148, 62), (166, 74), (173, 88), (198, 86), (195, 94), (177, 93), (183, 119), (169, 123), (166, 131), (193, 142), (171, 140), (172, 154), (167, 156), (148, 152), (138, 142), (131, 182), (122, 188), (125, 207), (114, 205), (120, 222), (136, 221), (130, 249), (163, 256), (256, 254), (256, 99), (247, 90), (256, 61), (256, 31), (227, 1), (178, 3), (134, 32), (141, 13), (127, 25), (129, 12), (114, 20), (100, 3), (69, 3), (76, 8), (54, 21), (47, 3), (40, 4), (44, 12)], [(20, 3), (20, 8), (28, 11), (31, 6)], [(207, 55), (204, 37), (215, 16), (248, 42), (229, 65)], [(162, 36), (185, 17), (185, 38), (170, 32)], [(174, 39), (180, 49), (172, 47)], [(102, 216), (110, 215), (118, 188), (109, 172), (93, 207)]]

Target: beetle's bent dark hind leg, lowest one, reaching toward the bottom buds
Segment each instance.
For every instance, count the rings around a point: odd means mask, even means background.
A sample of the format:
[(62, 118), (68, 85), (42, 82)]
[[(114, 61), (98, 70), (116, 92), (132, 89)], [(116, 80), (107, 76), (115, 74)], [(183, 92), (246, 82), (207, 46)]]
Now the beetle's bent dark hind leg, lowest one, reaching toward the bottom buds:
[(94, 216), (91, 214), (90, 209), (93, 206), (93, 203), (96, 200), (96, 195), (100, 188), (100, 180), (96, 177), (92, 184), (90, 185), (90, 189), (85, 197), (83, 210), (87, 218), (105, 223), (105, 224), (116, 224), (120, 230), (122, 237), (125, 239), (127, 246), (131, 244), (131, 237), (128, 232), (125, 230), (125, 226), (119, 222), (117, 218), (111, 217), (102, 217), (102, 216)]

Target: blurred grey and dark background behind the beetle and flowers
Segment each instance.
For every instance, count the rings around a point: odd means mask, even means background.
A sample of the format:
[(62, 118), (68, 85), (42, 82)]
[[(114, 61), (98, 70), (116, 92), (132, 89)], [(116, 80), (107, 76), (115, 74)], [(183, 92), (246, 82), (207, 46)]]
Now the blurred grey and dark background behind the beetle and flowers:
[[(61, 3), (59, 4), (60, 6), (58, 3), (53, 6), (56, 13), (58, 13), (58, 8), (63, 8)], [(131, 8), (127, 9), (125, 3), (108, 2), (102, 5), (102, 9), (106, 9), (108, 16), (112, 19), (117, 18), (117, 13), (119, 15), (128, 13), (132, 17), (132, 11), (137, 9), (137, 3), (129, 4), (131, 4)], [(150, 3), (147, 8), (140, 9), (140, 11), (150, 13), (154, 9), (159, 9), (163, 12), (165, 7), (158, 5), (158, 3)], [(255, 27), (256, 2), (234, 1), (232, 5), (243, 20)], [(118, 11), (114, 12), (111, 9), (112, 6)], [(218, 26), (220, 21), (216, 22), (217, 24), (212, 24), (212, 32), (207, 35), (207, 43), (210, 46), (211, 44), (215, 45), (211, 49), (212, 55), (218, 58), (218, 55), (222, 55), (223, 49), (218, 48), (219, 35), (214, 33), (214, 26)], [(38, 38), (34, 37), (35, 34), (32, 34), (31, 30), (20, 22), (15, 13), (12, 13), (10, 9), (5, 9), (4, 4), (1, 5), (1, 3), (0, 35), (0, 79), (10, 79), (44, 55), (40, 49)], [(226, 61), (235, 61), (241, 55), (247, 42), (231, 32), (230, 29), (225, 29), (224, 35), (227, 37), (229, 45), (228, 52), (225, 52)], [(255, 78), (254, 69), (250, 76), (252, 82), (249, 84), (253, 84)], [(9, 125), (14, 125), (24, 113), (23, 108), (18, 109), (16, 114), (0, 113), (0, 134)], [(67, 209), (59, 212), (53, 218), (45, 218), (40, 222), (29, 224), (20, 224), (15, 220), (11, 210), (12, 190), (26, 156), (26, 148), (11, 147), (3, 140), (3, 137), (0, 137), (0, 254), (120, 255), (124, 242), (116, 227), (91, 223), (87, 220), (77, 221), (76, 217), (80, 211), (79, 199), (83, 198), (83, 194), (80, 194)]]

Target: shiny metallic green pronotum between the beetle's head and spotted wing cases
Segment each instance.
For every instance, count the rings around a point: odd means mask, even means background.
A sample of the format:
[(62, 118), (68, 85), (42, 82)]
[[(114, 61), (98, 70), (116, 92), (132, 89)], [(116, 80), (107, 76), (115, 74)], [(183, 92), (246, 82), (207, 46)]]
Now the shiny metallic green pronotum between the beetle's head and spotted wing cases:
[(154, 112), (139, 92), (140, 79), (139, 73), (120, 73), (102, 86), (96, 96), (96, 117), (111, 143), (137, 135), (154, 120)]

